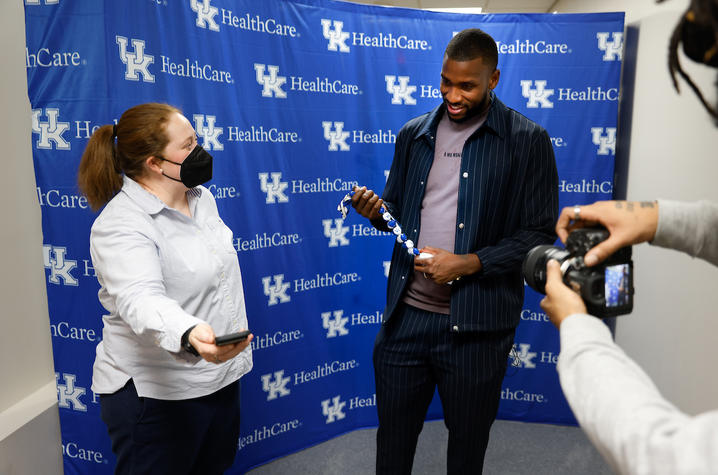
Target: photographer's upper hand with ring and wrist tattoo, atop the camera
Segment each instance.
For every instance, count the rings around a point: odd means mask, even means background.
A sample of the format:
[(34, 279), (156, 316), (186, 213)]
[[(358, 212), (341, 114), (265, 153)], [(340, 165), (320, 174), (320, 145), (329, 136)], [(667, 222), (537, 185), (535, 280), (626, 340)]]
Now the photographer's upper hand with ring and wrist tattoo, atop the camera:
[(651, 241), (658, 226), (658, 202), (598, 201), (592, 205), (569, 206), (561, 210), (556, 234), (562, 242), (566, 242), (569, 232), (574, 229), (597, 224), (608, 229), (610, 236), (586, 253), (584, 262), (588, 266), (602, 262), (624, 246)]

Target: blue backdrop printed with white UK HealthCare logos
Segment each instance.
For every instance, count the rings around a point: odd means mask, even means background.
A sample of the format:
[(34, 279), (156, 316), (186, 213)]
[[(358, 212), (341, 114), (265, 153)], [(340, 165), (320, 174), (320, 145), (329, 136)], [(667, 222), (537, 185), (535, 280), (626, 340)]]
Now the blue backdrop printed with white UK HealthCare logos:
[[(498, 97), (543, 125), (561, 205), (612, 196), (623, 14), (456, 15), (329, 0), (25, 0), (33, 158), (42, 207), (65, 473), (111, 473), (90, 390), (103, 309), (95, 214), (76, 186), (92, 131), (138, 103), (180, 107), (215, 157), (254, 370), (242, 379), (234, 473), (375, 426), (371, 350), (394, 240), (336, 205), (383, 189), (401, 126), (441, 101), (452, 35), (499, 47)], [(527, 290), (499, 417), (575, 424), (557, 332)], [(429, 419), (441, 418), (435, 398)], [(367, 461), (368, 464), (373, 461)]]

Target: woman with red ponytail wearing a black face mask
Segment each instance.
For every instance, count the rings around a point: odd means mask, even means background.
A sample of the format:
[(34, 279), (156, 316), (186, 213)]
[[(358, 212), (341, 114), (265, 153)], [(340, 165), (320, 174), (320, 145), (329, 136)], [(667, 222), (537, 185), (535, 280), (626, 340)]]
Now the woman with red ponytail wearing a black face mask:
[(236, 455), (239, 378), (249, 343), (232, 231), (212, 194), (212, 157), (166, 104), (141, 104), (97, 129), (78, 182), (93, 209), (92, 262), (107, 309), (92, 390), (115, 473), (222, 473)]

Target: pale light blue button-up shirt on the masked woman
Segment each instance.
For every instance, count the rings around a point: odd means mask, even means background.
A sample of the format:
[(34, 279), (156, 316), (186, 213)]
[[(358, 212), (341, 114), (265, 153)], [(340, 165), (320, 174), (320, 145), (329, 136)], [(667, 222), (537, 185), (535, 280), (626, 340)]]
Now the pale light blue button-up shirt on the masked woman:
[(192, 217), (125, 177), (95, 220), (92, 263), (107, 309), (92, 390), (110, 394), (132, 378), (141, 397), (211, 394), (252, 368), (251, 348), (217, 365), (180, 347), (182, 334), (206, 322), (216, 335), (248, 328), (232, 231), (204, 187), (187, 192)]

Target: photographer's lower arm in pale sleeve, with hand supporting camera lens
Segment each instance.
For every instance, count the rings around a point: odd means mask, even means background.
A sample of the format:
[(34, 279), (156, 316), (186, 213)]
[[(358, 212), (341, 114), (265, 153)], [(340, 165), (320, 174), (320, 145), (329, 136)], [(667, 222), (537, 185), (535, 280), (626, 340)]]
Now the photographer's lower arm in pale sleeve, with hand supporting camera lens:
[(586, 314), (547, 266), (541, 307), (559, 327), (557, 370), (581, 428), (618, 473), (718, 473), (718, 411), (689, 417), (666, 401), (650, 378)]

